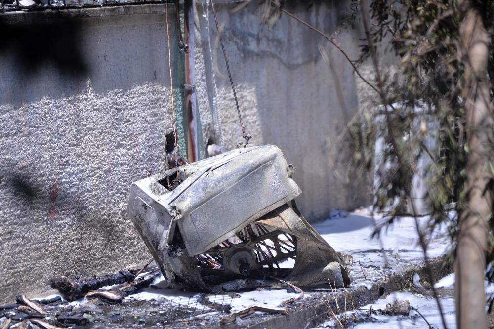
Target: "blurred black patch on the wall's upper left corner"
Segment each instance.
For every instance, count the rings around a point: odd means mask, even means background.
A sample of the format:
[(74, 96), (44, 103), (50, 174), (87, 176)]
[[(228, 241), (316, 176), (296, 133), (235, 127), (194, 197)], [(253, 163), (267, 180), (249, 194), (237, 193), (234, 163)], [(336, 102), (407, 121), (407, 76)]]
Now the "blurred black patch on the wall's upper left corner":
[(11, 52), (20, 73), (33, 74), (45, 62), (61, 74), (79, 78), (88, 72), (79, 47), (82, 24), (76, 20), (0, 24), (0, 49)]

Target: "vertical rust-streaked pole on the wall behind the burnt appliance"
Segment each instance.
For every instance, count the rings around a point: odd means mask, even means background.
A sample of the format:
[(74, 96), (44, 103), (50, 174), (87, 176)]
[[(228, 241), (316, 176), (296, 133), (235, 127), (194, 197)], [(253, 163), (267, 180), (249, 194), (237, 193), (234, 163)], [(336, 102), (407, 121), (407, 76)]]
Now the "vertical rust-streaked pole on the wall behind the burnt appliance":
[(188, 124), (189, 163), (198, 160), (197, 154), (197, 117), (196, 117), (196, 79), (194, 70), (194, 1), (185, 0), (185, 44), (189, 51), (185, 54), (185, 91)]

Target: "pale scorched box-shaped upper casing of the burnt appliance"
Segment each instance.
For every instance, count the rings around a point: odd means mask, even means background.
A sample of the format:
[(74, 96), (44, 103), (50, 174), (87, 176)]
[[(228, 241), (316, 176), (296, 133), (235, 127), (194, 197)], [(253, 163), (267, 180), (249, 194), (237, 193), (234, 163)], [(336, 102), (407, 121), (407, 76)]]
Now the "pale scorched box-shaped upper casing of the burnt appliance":
[[(176, 171), (147, 177), (130, 188), (127, 214), (159, 260), (166, 258), (163, 252), (175, 224), (188, 254), (198, 255), (302, 193), (274, 145), (235, 149), (180, 166), (179, 176), (185, 179), (169, 191), (163, 180)], [(163, 270), (173, 277), (171, 269)]]

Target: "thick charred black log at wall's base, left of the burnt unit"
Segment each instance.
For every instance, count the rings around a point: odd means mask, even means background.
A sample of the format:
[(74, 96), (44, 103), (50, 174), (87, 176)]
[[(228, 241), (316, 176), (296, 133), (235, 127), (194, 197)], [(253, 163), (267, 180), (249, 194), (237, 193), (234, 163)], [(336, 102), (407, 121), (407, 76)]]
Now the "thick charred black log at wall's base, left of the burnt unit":
[(125, 282), (132, 282), (135, 278), (135, 274), (120, 270), (118, 273), (106, 274), (93, 278), (82, 278), (79, 280), (69, 280), (63, 275), (58, 275), (50, 279), (50, 286), (53, 289), (57, 289), (68, 301), (73, 301), (81, 298), (91, 290), (97, 290), (99, 288), (120, 285)]

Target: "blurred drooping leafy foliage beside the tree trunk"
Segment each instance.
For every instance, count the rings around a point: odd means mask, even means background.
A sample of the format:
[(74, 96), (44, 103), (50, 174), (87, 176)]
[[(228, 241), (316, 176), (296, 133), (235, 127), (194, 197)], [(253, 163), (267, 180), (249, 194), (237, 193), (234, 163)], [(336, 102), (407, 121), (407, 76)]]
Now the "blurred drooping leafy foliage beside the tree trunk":
[[(362, 5), (360, 1), (353, 3)], [(494, 1), (473, 1), (472, 4), (482, 13), (484, 25), (492, 32)], [(439, 224), (447, 225), (453, 241), (450, 256), (454, 258), (458, 218), (465, 210), (464, 169), (470, 152), (464, 143), (470, 127), (466, 126), (462, 94), (465, 68), (459, 43), (461, 12), (456, 1), (451, 0), (372, 0), (370, 12), (374, 23), (371, 26), (372, 42), (361, 46), (362, 52), (356, 63), (365, 63), (376, 45), (390, 44), (400, 58), (398, 74), (380, 77), (386, 86), (384, 94), (388, 103), (394, 104), (394, 109), (388, 109), (391, 125), (379, 120), (384, 113), (382, 106), (372, 113), (372, 117), (377, 118), (374, 129), (369, 129), (369, 120), (352, 123), (360, 127), (351, 133), (355, 152), (362, 153), (363, 147), (371, 146), (361, 143), (362, 131), (374, 134), (367, 136), (367, 140), (379, 137), (383, 140), (382, 159), (375, 160), (379, 184), (374, 195), (374, 206), (378, 211), (389, 211), (390, 216), (379, 224), (375, 234), (392, 224), (397, 215), (408, 212), (405, 185), (410, 183), (412, 175), (420, 176), (427, 184), (427, 201), (431, 208), (428, 233)], [(488, 73), (492, 102), (492, 48), (490, 54)], [(392, 133), (397, 136), (398, 150), (392, 146), (388, 126), (393, 127)], [(487, 148), (494, 149), (490, 145)], [(399, 168), (398, 152), (405, 168)], [(431, 159), (426, 173), (418, 170), (418, 162), (424, 157)], [(356, 161), (353, 164), (357, 167), (362, 165)], [(494, 175), (493, 162), (486, 165)], [(403, 175), (403, 172), (406, 174)], [(457, 215), (452, 218), (448, 215), (449, 210), (456, 210)], [(494, 259), (494, 221), (491, 219), (489, 224), (488, 264)], [(493, 281), (494, 270), (489, 265), (488, 269), (488, 279)]]

